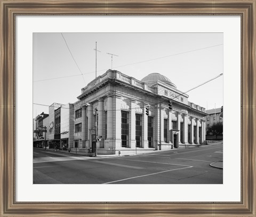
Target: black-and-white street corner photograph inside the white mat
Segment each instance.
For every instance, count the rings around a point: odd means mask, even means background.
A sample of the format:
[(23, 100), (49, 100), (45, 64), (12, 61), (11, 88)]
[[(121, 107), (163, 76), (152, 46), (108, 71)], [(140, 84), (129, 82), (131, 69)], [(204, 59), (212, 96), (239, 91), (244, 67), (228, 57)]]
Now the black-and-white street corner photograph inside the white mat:
[(32, 135), (34, 184), (222, 184), (223, 33), (34, 32)]

